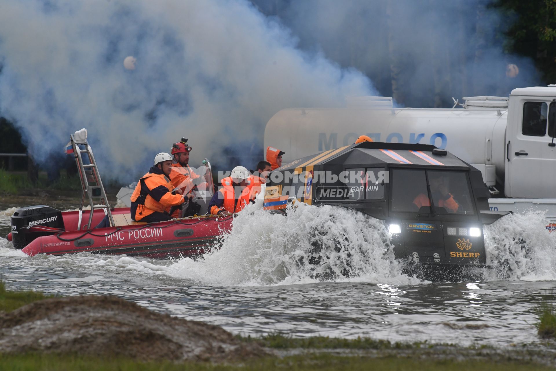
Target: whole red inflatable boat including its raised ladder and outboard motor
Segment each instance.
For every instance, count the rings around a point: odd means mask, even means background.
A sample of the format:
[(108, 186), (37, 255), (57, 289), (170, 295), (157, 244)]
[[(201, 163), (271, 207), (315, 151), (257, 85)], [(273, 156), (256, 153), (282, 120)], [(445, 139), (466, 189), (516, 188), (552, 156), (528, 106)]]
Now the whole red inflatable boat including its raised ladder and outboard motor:
[[(14, 248), (31, 256), (94, 253), (172, 258), (200, 255), (218, 247), (219, 236), (231, 230), (232, 216), (202, 215), (207, 212), (214, 184), (208, 160), (197, 169), (206, 190), (194, 192), (191, 201), (201, 216), (147, 224), (133, 221), (129, 208), (111, 209), (108, 205), (87, 130), (70, 135), (67, 147), (67, 153), (75, 157), (83, 190), (79, 210), (61, 212), (46, 205), (16, 210), (7, 236)], [(85, 199), (91, 210), (83, 210)], [(95, 228), (101, 221), (110, 226)]]

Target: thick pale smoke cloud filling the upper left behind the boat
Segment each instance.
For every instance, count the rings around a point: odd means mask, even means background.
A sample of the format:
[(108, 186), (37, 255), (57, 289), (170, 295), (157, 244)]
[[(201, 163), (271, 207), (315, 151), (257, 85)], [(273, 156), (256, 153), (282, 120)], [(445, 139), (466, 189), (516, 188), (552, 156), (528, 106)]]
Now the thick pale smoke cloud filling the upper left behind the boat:
[(0, 115), (37, 162), (86, 127), (102, 173), (125, 181), (181, 136), (195, 165), (245, 153), (281, 108), (376, 95), (245, 0), (4, 0), (0, 66)]

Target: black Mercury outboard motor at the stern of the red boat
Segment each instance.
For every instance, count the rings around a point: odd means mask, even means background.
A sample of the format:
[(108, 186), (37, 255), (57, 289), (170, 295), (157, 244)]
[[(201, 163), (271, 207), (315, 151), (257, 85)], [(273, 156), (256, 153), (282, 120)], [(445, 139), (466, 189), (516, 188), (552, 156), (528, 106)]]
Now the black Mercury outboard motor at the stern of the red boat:
[(12, 215), (12, 243), (16, 249), (23, 249), (37, 237), (63, 231), (62, 212), (50, 206), (22, 207)]

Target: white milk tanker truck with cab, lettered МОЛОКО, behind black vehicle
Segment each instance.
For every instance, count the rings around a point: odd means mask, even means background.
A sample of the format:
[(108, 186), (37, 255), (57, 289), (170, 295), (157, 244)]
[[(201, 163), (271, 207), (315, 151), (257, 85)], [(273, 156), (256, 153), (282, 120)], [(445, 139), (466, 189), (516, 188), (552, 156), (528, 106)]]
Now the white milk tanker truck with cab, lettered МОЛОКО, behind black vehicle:
[(360, 135), (435, 145), (481, 171), (491, 210), (547, 211), (547, 228), (554, 229), (556, 85), (464, 100), (451, 109), (394, 108), (389, 97), (354, 98), (347, 108), (287, 108), (267, 123), (264, 145), (286, 152), (284, 164)]

